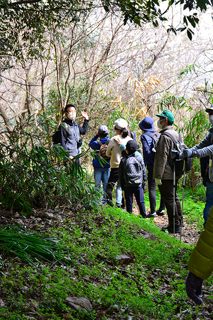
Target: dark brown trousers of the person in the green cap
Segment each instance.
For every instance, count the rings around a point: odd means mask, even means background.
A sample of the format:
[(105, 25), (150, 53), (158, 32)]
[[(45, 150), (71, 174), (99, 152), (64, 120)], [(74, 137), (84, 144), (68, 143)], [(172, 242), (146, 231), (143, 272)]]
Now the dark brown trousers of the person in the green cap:
[[(177, 181), (175, 180), (175, 226), (180, 225), (181, 220), (181, 205), (180, 200), (177, 195)], [(173, 180), (161, 180), (162, 184), (158, 185), (161, 197), (165, 203), (167, 214), (168, 214), (168, 224), (173, 226)]]

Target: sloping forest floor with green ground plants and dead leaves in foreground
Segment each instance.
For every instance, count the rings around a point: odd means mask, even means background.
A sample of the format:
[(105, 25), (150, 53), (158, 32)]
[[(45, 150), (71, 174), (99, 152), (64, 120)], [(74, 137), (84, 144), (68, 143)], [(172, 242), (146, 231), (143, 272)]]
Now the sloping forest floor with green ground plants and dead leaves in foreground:
[[(212, 319), (211, 278), (203, 286), (205, 305), (195, 306), (185, 293), (187, 245), (199, 236), (185, 221), (180, 242), (179, 234), (173, 238), (155, 227), (167, 224), (166, 215), (149, 223), (109, 207), (99, 213), (34, 209), (26, 216), (1, 210), (0, 217), (1, 226), (19, 224), (60, 238), (76, 261), (69, 267), (43, 262), (35, 269), (7, 254), (0, 272), (1, 320)], [(87, 298), (92, 311), (74, 310), (65, 302), (69, 297)]]

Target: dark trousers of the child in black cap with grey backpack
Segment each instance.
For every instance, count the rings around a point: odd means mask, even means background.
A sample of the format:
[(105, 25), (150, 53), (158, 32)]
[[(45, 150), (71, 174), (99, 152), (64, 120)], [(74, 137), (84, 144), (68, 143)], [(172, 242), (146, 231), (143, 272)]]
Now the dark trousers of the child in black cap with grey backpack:
[(143, 196), (142, 185), (137, 186), (124, 186), (123, 187), (125, 200), (126, 200), (126, 210), (132, 213), (132, 203), (133, 203), (133, 193), (135, 195), (137, 205), (139, 206), (140, 214), (142, 217), (146, 217), (146, 208)]

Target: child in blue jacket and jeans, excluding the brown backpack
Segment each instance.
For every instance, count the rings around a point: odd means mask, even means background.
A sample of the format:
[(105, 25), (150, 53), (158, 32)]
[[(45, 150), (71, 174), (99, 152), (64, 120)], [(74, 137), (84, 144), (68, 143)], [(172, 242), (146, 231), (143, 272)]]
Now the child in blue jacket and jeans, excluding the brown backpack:
[[(106, 125), (100, 125), (98, 128), (97, 134), (94, 136), (94, 138), (90, 141), (89, 146), (93, 150), (100, 150), (101, 144), (108, 144), (110, 141), (110, 138), (108, 136), (108, 128)], [(101, 143), (100, 143), (101, 142)], [(101, 182), (103, 185), (103, 199), (102, 203), (106, 204), (106, 185), (109, 179), (109, 170), (110, 170), (110, 157), (106, 159), (105, 163), (100, 163), (97, 159), (97, 156), (95, 159), (93, 159), (92, 164), (94, 167), (94, 179), (96, 182), (96, 187), (101, 190)]]

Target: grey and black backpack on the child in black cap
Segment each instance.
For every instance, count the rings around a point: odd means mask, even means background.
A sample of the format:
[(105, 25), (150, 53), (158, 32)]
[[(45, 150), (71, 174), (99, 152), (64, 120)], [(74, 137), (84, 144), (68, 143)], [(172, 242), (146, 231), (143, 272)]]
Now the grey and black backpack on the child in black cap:
[(125, 184), (139, 185), (143, 183), (142, 165), (139, 156), (133, 153), (128, 156), (124, 165)]

